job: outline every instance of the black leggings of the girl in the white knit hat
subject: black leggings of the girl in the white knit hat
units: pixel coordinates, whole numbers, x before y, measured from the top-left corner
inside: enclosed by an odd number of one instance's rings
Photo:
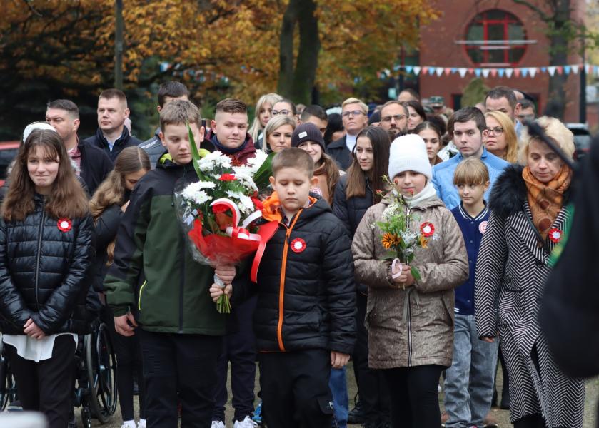
[[[443,369],[441,365],[422,365],[383,370],[393,428],[441,427],[437,388]]]

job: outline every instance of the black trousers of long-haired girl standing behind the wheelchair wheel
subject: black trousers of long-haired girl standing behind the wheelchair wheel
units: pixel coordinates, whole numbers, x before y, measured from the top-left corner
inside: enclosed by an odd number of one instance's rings
[[[139,335],[126,337],[114,330],[114,316],[108,307],[104,307],[102,320],[109,326],[114,352],[116,353],[116,388],[119,392],[119,406],[124,421],[134,419],[133,389],[134,378],[139,387],[139,417],[146,419],[146,388],[141,363]],[[136,330],[139,331],[141,329]]]

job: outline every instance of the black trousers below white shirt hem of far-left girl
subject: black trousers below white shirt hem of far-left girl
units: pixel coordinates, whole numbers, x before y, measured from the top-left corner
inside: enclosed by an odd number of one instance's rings
[[[14,346],[4,345],[16,384],[19,385],[23,409],[44,413],[49,428],[65,428],[73,408],[73,337],[56,337],[52,357],[40,362],[25,360],[16,353]]]

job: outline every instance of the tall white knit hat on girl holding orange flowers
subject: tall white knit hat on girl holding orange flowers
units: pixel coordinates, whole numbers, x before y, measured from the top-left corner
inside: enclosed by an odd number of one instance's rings
[[[389,151],[389,179],[403,171],[414,171],[433,178],[433,168],[428,161],[426,145],[420,136],[406,134],[393,140]]]

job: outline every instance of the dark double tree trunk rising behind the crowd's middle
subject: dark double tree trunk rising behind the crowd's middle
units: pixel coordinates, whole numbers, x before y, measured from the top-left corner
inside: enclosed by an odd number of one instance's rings
[[[295,103],[310,104],[321,40],[314,0],[290,0],[283,15],[279,51],[278,93]],[[299,24],[298,58],[293,64],[293,31]]]

